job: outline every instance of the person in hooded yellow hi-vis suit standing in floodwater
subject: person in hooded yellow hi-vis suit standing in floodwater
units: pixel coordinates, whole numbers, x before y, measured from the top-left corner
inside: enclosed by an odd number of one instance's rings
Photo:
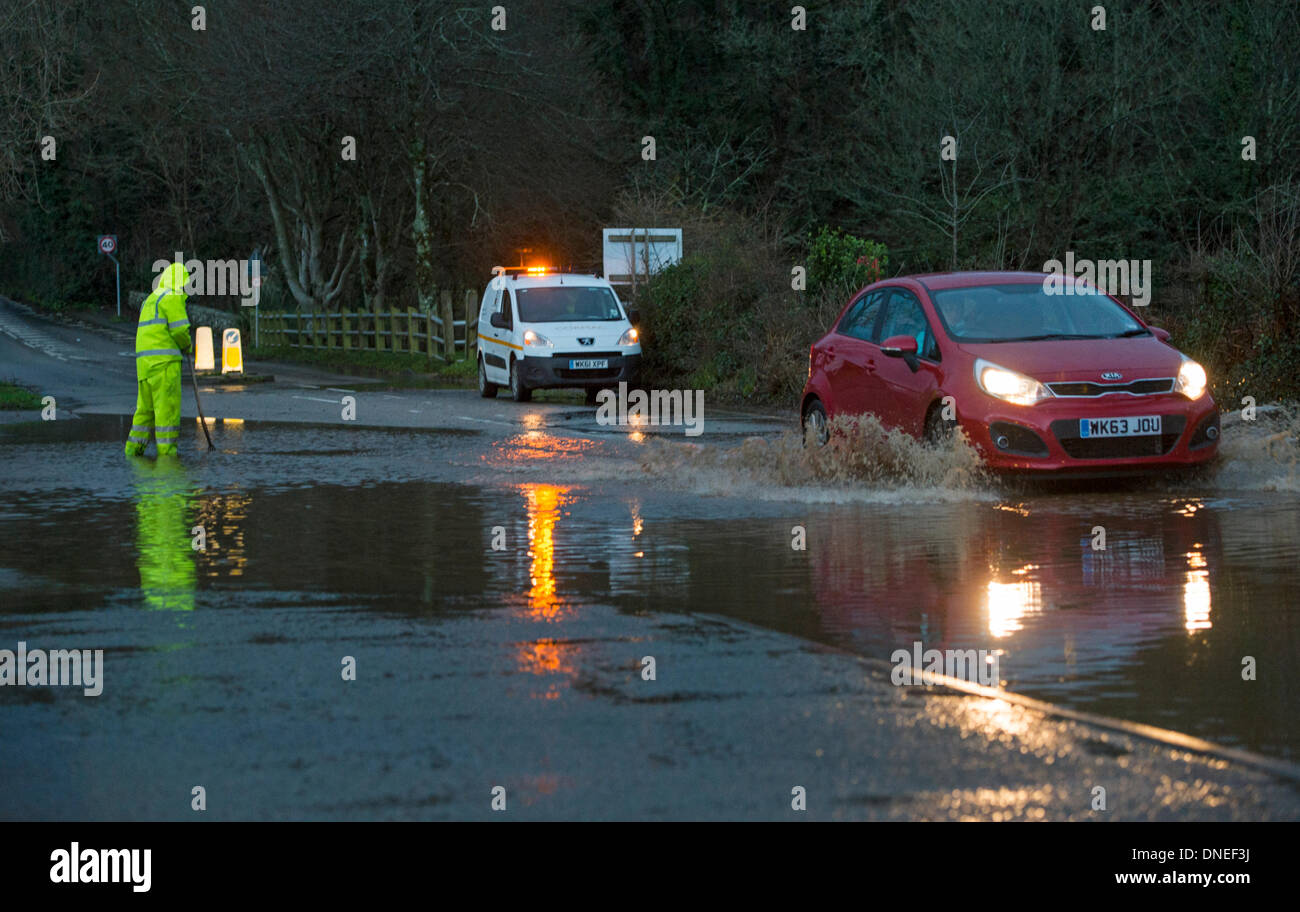
[[[135,329],[135,417],[126,455],[139,456],[157,438],[159,456],[176,456],[181,437],[181,352],[190,351],[185,286],[190,274],[179,262],[164,270],[153,294],[140,304]]]

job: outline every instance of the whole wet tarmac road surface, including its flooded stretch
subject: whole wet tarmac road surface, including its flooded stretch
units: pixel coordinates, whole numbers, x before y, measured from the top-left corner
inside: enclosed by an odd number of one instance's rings
[[[65,375],[23,357],[0,374]],[[107,655],[100,698],[0,689],[0,816],[183,818],[194,785],[220,818],[488,817],[494,785],[547,818],[788,818],[794,786],[811,817],[1297,816],[1248,763],[881,670],[918,640],[997,650],[1013,691],[1294,760],[1300,530],[1271,464],[783,486],[679,459],[779,416],[723,414],[697,451],[576,403],[411,391],[359,400],[426,429],[367,427],[286,404],[313,379],[213,390],[209,414],[304,424],[218,421],[211,455],[191,425],[181,465],[124,460],[103,387],[0,427],[0,648]]]

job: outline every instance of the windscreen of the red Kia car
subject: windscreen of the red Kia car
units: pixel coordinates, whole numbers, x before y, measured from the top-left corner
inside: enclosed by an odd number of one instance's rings
[[[948,334],[959,342],[1031,339],[1113,339],[1147,330],[1132,314],[1095,288],[1074,294],[1043,285],[982,285],[932,291]]]

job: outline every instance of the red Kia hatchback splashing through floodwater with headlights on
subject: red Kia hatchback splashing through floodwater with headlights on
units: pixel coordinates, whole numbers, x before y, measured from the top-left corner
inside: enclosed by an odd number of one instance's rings
[[[959,425],[993,469],[1126,474],[1212,459],[1219,418],[1204,368],[1115,298],[1046,278],[867,286],[809,351],[805,439],[826,443],[836,416],[874,414],[927,440]]]

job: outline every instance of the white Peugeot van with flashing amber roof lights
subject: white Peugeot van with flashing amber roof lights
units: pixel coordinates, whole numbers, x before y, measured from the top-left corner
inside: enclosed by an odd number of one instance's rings
[[[599,390],[634,382],[641,342],[627,308],[595,275],[507,270],[478,307],[478,394],[510,387],[526,403],[533,390]]]

